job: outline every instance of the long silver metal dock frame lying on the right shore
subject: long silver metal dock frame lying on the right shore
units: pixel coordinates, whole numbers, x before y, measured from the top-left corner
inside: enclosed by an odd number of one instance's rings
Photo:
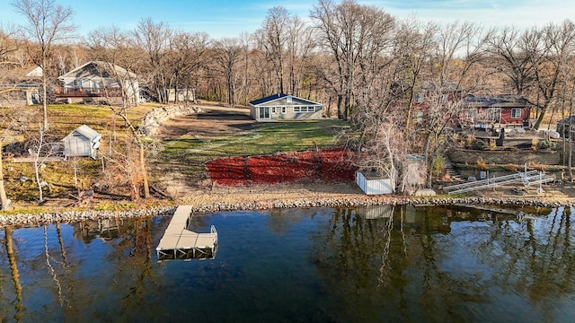
[[[505,175],[491,179],[475,180],[463,184],[452,185],[443,188],[443,191],[451,195],[464,192],[472,192],[483,188],[495,188],[506,184],[523,183],[525,186],[531,186],[536,184],[549,183],[553,180],[555,180],[553,176],[547,175],[543,171],[529,170],[512,175]]]

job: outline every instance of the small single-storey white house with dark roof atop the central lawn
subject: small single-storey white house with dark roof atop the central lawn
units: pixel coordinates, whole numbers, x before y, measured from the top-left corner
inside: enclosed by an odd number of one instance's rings
[[[284,93],[250,102],[250,116],[257,121],[323,118],[323,104]]]

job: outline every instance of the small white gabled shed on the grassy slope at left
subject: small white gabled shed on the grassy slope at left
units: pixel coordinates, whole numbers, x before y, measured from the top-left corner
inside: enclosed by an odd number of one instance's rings
[[[86,125],[77,127],[69,135],[66,135],[64,141],[64,156],[66,157],[92,157],[96,159],[96,151],[100,146],[100,138],[93,128]]]

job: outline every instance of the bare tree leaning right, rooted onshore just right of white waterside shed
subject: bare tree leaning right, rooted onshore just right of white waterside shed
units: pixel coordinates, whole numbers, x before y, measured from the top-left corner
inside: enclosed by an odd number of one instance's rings
[[[483,77],[473,74],[482,63],[486,39],[490,35],[473,23],[454,22],[439,28],[437,45],[431,52],[427,85],[424,88],[424,121],[420,130],[425,134],[423,153],[428,162],[428,185],[434,166],[444,147],[443,135],[448,127],[464,125],[467,113],[462,104],[467,93],[478,89]]]

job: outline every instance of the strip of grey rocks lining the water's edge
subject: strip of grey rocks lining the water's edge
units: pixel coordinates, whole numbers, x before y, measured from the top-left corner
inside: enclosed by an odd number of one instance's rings
[[[271,208],[298,208],[298,207],[358,207],[369,205],[499,205],[499,206],[529,206],[537,208],[558,208],[575,206],[574,200],[544,201],[517,198],[491,198],[491,197],[364,197],[364,198],[323,198],[302,199],[289,202],[246,202],[246,203],[215,203],[210,205],[194,205],[192,213],[211,213],[219,211],[253,211]],[[149,216],[171,216],[175,206],[163,206],[149,209],[100,212],[100,211],[66,211],[42,214],[14,214],[0,215],[0,227],[33,227],[52,223],[77,223],[83,221],[97,221],[103,219],[130,219]]]

